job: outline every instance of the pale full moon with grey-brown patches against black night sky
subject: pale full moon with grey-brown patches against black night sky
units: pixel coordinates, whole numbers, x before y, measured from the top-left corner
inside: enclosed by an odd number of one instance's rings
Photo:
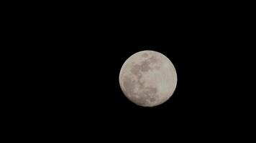
[[[173,95],[177,74],[165,55],[157,51],[139,51],[124,62],[119,84],[127,99],[134,104],[155,107]]]

